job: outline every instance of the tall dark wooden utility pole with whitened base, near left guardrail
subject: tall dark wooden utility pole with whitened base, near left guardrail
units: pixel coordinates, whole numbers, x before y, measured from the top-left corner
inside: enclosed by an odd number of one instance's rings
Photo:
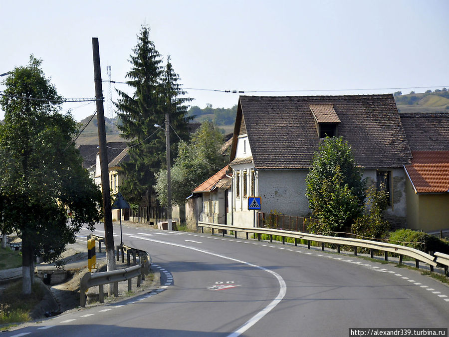
[[[95,99],[97,103],[98,145],[100,147],[101,189],[103,192],[104,236],[107,270],[115,270],[114,235],[112,232],[111,193],[109,191],[108,154],[106,127],[104,125],[103,89],[101,86],[100,50],[98,37],[92,37],[94,63]],[[114,294],[114,284],[109,284],[109,296]]]

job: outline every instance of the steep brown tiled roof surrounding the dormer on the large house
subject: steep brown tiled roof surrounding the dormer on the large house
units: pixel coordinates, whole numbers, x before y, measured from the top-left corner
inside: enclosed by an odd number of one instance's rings
[[[402,167],[411,152],[393,95],[240,96],[230,161],[244,117],[254,166],[309,168],[320,139],[310,105],[332,105],[337,133],[352,147],[362,167]]]

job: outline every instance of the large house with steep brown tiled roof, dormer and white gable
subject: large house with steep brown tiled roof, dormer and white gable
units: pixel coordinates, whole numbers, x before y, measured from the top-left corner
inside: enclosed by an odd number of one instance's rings
[[[261,211],[310,215],[305,178],[326,136],[342,136],[369,184],[386,184],[389,220],[407,217],[412,153],[393,95],[240,96],[232,138],[233,224],[252,227],[248,197]]]

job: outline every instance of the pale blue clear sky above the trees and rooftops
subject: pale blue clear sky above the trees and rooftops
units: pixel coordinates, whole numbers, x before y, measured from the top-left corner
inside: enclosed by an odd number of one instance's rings
[[[111,79],[126,81],[143,24],[201,108],[237,104],[239,93],[214,90],[288,96],[449,87],[447,0],[0,0],[0,13],[0,74],[33,54],[65,98],[95,96],[92,37],[102,79],[110,65]],[[112,84],[113,101],[115,88],[132,93]],[[108,116],[107,82],[103,92]],[[69,109],[82,120],[95,103],[64,103]]]

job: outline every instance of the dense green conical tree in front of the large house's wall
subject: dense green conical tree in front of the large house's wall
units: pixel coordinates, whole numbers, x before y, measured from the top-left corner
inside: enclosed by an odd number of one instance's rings
[[[365,183],[348,143],[341,137],[325,138],[306,178],[306,197],[319,220],[309,231],[340,231],[351,226],[362,210]]]

